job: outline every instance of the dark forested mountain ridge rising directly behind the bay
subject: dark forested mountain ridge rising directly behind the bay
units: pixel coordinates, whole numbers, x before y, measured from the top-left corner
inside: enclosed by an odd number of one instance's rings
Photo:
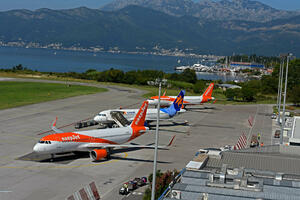
[[[300,55],[300,16],[257,23],[176,17],[139,6],[115,12],[85,7],[13,10],[0,12],[0,41],[124,51],[153,51],[158,46],[201,54]]]

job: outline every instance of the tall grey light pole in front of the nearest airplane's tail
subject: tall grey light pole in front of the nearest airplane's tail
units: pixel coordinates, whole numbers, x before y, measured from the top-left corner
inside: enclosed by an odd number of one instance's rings
[[[158,149],[158,129],[159,129],[159,117],[160,117],[160,93],[161,93],[161,80],[159,80],[159,90],[158,90],[158,105],[157,105],[157,120],[156,120],[156,131],[155,131],[155,151],[154,151],[154,162],[153,162],[151,200],[155,200],[157,149]]]

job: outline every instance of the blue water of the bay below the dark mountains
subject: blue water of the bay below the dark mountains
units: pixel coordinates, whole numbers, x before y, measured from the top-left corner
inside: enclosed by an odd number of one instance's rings
[[[0,68],[7,69],[22,64],[41,72],[85,72],[88,69],[104,71],[114,68],[123,71],[152,69],[174,73],[175,66],[199,62],[201,63],[201,59],[192,57],[0,47]],[[211,73],[197,73],[197,78],[222,81],[236,79],[232,75]]]

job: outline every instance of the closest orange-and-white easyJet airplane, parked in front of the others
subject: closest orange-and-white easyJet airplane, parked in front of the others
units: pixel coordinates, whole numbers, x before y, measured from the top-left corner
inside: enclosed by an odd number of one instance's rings
[[[51,160],[54,158],[54,154],[58,153],[88,151],[90,157],[98,161],[109,158],[111,149],[115,147],[154,148],[154,146],[149,145],[122,145],[149,130],[148,127],[144,126],[147,108],[148,102],[145,101],[130,126],[121,128],[63,132],[55,127],[55,120],[52,129],[56,133],[41,138],[33,147],[33,151],[41,154],[51,154]],[[167,146],[172,144],[174,137]],[[166,148],[167,146],[159,148]]]

